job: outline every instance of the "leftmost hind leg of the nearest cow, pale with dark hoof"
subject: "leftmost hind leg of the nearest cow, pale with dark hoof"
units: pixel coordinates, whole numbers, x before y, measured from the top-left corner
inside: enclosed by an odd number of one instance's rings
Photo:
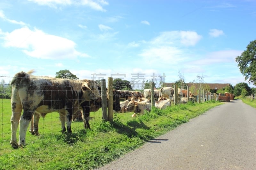
[[[17,99],[19,100],[19,99]],[[20,101],[17,101],[16,99],[12,99],[12,117],[11,117],[11,129],[12,129],[12,137],[11,137],[11,142],[10,144],[14,149],[18,148],[18,143],[17,143],[17,129],[19,125],[19,120],[20,120],[20,115],[22,111],[22,106]]]

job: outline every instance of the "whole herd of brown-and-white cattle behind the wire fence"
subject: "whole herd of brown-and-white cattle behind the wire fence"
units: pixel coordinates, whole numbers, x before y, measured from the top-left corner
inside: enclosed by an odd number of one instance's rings
[[[13,148],[26,144],[26,131],[30,122],[29,131],[38,135],[40,117],[51,112],[60,114],[61,131],[72,133],[71,121],[81,116],[84,128],[90,129],[90,112],[98,111],[101,107],[100,85],[94,80],[69,80],[31,75],[33,71],[19,72],[11,81],[12,85],[12,137],[10,144]],[[107,89],[106,89],[107,90]],[[178,101],[188,102],[186,90],[178,89]],[[189,100],[195,99],[189,94]],[[155,107],[164,109],[171,105],[174,98],[174,89],[162,87],[154,90]],[[186,98],[186,99],[185,99]],[[120,102],[120,99],[124,99]],[[21,115],[23,110],[23,114]],[[115,112],[144,113],[151,110],[151,91],[113,90],[113,110]],[[67,129],[65,127],[67,123]],[[16,132],[20,124],[19,142]]]

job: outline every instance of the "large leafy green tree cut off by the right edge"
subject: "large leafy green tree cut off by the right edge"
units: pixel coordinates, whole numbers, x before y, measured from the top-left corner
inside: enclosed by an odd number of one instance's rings
[[[247,49],[236,57],[240,72],[249,83],[256,85],[256,40],[250,41]]]

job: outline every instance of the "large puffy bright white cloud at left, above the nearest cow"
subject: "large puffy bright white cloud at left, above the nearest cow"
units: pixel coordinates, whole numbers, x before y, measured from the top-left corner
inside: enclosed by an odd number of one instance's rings
[[[89,56],[76,51],[76,43],[71,40],[44,33],[36,28],[30,30],[28,27],[6,33],[4,46],[22,48],[25,54],[43,59],[76,59],[77,56]]]

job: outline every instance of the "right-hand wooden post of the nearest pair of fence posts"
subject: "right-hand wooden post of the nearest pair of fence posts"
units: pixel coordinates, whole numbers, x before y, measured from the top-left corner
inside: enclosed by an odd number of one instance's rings
[[[113,122],[113,78],[108,77],[108,121]]]

